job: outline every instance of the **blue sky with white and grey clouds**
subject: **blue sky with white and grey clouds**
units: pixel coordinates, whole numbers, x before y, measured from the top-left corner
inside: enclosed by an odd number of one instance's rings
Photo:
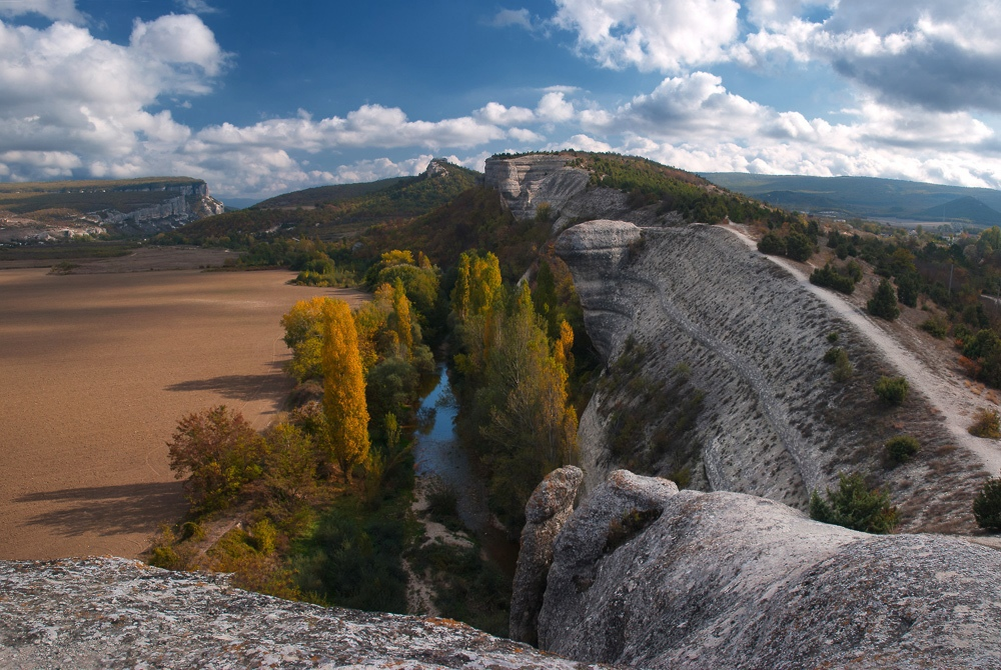
[[[0,180],[221,199],[574,147],[1001,187],[1001,0],[0,0]]]

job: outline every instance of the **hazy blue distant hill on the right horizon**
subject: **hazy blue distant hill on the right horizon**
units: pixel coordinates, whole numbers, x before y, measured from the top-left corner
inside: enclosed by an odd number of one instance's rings
[[[1001,221],[1001,191],[876,177],[814,177],[704,172],[715,184],[800,211],[846,217],[955,221],[987,227]],[[974,204],[974,202],[976,204]]]

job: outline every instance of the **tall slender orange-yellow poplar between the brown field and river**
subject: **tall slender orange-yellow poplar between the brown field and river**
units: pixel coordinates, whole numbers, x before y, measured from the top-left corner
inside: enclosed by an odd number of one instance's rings
[[[344,480],[368,461],[368,408],[354,318],[347,302],[323,305],[323,414],[327,448]]]

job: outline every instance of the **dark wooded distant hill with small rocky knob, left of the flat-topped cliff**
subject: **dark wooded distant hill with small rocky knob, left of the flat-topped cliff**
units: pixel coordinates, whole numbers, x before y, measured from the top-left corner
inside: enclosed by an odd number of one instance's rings
[[[189,241],[262,232],[338,239],[376,223],[425,214],[474,186],[478,177],[478,172],[434,159],[417,176],[285,193],[195,221],[177,235]]]

